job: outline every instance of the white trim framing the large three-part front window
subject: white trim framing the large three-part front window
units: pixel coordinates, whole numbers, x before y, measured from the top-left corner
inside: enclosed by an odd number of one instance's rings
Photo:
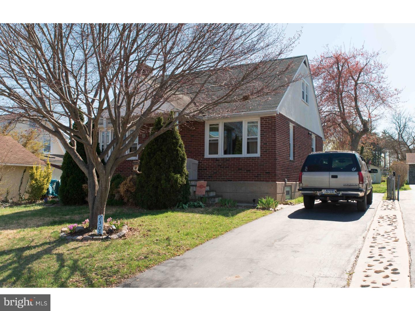
[[[223,123],[242,121],[242,154],[223,154]],[[258,121],[258,153],[247,153],[248,121]],[[258,117],[214,119],[205,122],[205,158],[250,158],[261,156],[261,122]],[[219,124],[219,154],[209,154],[209,125]]]

